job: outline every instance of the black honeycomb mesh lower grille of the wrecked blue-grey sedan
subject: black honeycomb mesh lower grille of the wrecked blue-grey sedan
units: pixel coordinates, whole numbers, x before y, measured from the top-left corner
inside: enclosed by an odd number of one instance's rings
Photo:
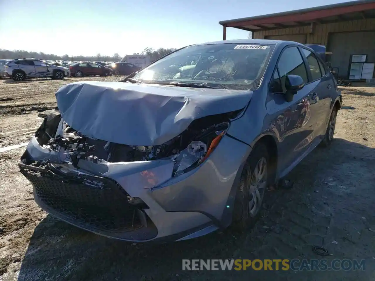
[[[58,175],[50,169],[20,164],[48,208],[83,228],[127,232],[142,227],[127,194],[111,179],[89,175]],[[48,211],[48,210],[47,210]]]

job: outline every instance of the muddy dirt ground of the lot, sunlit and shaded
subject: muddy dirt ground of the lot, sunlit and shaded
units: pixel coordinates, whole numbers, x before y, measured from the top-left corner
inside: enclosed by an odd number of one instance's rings
[[[118,81],[119,77],[89,78]],[[335,140],[291,173],[291,190],[269,191],[247,233],[231,229],[170,244],[131,244],[63,223],[34,202],[18,172],[22,146],[77,81],[0,80],[0,281],[375,280],[375,88],[343,87]],[[82,78],[81,78],[82,80]],[[5,147],[14,145],[14,149]],[[323,245],[330,256],[318,256]],[[182,271],[182,259],[365,259],[365,271]]]

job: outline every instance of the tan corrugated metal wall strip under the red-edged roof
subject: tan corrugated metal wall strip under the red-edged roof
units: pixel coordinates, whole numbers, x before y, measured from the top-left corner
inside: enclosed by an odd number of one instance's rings
[[[375,30],[375,19],[359,19],[356,21],[317,24],[314,27],[313,33],[310,33],[310,26],[255,31],[253,33],[253,38],[265,39],[265,36],[270,35],[306,34],[307,44],[327,45],[329,33],[365,30]]]

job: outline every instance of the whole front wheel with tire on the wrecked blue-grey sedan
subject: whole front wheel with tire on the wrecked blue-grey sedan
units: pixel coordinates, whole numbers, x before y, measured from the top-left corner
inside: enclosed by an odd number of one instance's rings
[[[269,185],[269,163],[267,146],[257,143],[246,160],[237,187],[232,220],[234,229],[249,229],[259,218],[264,194]]]

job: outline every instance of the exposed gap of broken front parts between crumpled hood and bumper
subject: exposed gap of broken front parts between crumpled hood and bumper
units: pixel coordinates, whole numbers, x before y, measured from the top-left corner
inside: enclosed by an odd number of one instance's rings
[[[66,124],[58,112],[52,111],[36,131],[43,148],[63,150],[62,162],[77,167],[79,160],[100,162],[130,162],[168,159],[174,161],[173,175],[188,172],[201,164],[219,143],[229,128],[230,120],[240,111],[210,115],[193,121],[180,135],[155,146],[133,146],[93,139]]]

